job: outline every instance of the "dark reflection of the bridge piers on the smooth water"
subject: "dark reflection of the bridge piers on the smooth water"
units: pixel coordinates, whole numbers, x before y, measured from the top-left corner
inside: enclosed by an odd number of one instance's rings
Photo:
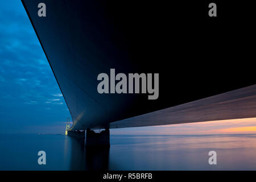
[[[108,170],[110,147],[85,147],[83,139],[67,136],[64,148],[71,150],[69,170]]]

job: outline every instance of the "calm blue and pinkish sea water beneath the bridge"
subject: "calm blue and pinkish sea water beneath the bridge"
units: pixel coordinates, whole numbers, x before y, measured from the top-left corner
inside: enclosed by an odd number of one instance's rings
[[[111,136],[111,147],[89,150],[64,135],[0,135],[0,170],[255,170],[256,134]],[[46,151],[46,165],[38,151]],[[217,152],[209,165],[208,152]]]

